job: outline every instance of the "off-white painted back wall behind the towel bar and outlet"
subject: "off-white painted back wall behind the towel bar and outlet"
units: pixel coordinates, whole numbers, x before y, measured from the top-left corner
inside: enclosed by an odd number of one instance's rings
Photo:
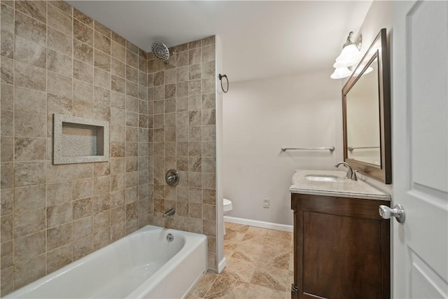
[[[335,169],[342,155],[342,82],[325,71],[230,83],[223,97],[223,186],[228,216],[292,225],[295,169]],[[231,76],[230,76],[231,78]],[[286,151],[335,146],[335,151]],[[263,198],[270,208],[262,207]]]

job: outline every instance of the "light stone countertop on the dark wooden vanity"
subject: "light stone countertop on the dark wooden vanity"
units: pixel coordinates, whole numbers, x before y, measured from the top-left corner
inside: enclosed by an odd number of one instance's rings
[[[297,169],[293,174],[293,185],[290,193],[325,195],[336,197],[364,198],[366,200],[391,200],[391,195],[375,188],[365,181],[344,179],[346,172],[335,170]],[[309,181],[307,175],[337,176],[343,181]]]

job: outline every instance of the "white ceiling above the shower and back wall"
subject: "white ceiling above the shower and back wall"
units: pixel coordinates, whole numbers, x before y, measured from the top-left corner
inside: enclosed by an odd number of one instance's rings
[[[332,72],[372,1],[67,1],[147,52],[211,35],[230,82]]]

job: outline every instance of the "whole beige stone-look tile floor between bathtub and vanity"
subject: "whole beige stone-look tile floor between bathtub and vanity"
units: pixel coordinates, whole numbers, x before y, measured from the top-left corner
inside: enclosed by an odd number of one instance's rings
[[[187,299],[290,298],[293,282],[292,232],[225,223],[220,274],[207,272]]]

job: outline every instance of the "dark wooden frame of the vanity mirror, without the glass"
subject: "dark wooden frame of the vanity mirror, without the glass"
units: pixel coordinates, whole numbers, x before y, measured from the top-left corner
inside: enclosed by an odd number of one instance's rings
[[[358,79],[363,76],[367,67],[369,67],[375,59],[377,59],[378,63],[380,165],[349,158],[347,144],[346,96]],[[344,161],[349,163],[353,170],[358,170],[361,174],[365,174],[366,176],[387,184],[392,182],[390,76],[386,29],[381,29],[372,42],[372,45],[365,53],[363,59],[360,60],[358,66],[353,71],[353,74],[342,88],[342,116],[344,126]]]

